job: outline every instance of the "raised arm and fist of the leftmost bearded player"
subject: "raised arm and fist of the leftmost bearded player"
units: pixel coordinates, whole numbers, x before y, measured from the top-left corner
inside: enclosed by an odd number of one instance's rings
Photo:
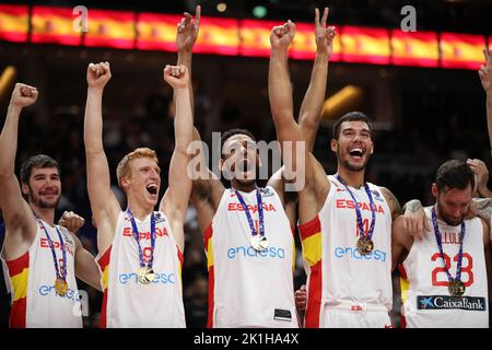
[[[23,253],[36,234],[36,223],[27,202],[22,198],[21,188],[14,174],[17,150],[19,118],[24,107],[36,102],[37,89],[16,83],[5,124],[0,135],[0,208],[5,223],[7,258],[15,258]]]

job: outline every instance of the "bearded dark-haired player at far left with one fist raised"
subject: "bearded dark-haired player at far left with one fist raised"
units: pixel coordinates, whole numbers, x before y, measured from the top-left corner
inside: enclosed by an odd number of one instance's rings
[[[5,224],[2,264],[11,292],[10,327],[82,327],[75,276],[101,290],[94,257],[66,228],[55,224],[61,197],[57,161],[38,154],[14,175],[19,118],[36,88],[16,83],[0,136],[0,208]],[[24,198],[25,200],[24,200]],[[72,225],[73,215],[65,215]]]

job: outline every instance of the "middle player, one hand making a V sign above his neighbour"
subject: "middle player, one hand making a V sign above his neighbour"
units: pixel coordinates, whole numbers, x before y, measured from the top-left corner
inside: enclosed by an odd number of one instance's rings
[[[335,36],[332,30],[325,28],[328,10],[321,22],[316,12],[318,51],[301,115],[321,109]],[[177,30],[178,63],[189,70],[199,14],[199,7],[196,19],[185,14]],[[200,140],[195,131],[195,139]],[[223,133],[220,167],[232,173],[231,188],[225,188],[206,166],[194,180],[191,201],[208,255],[209,327],[298,326],[292,272],[295,197],[284,191],[282,175],[272,177],[266,188],[258,187],[260,161],[255,143],[253,135],[244,129]]]

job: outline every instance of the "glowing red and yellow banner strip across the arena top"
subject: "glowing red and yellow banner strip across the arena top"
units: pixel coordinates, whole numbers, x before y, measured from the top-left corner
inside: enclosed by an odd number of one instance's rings
[[[136,13],[89,9],[86,33],[77,30],[80,14],[71,8],[0,4],[0,40],[98,46],[119,49],[176,51],[180,14]],[[270,32],[281,21],[201,18],[194,51],[198,54],[269,57]],[[295,23],[289,55],[313,59],[313,23]],[[402,32],[400,30],[337,26],[331,61],[429,68],[478,69],[484,35]]]

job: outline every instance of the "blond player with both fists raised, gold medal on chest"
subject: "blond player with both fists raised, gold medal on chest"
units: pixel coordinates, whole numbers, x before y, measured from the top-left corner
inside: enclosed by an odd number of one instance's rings
[[[192,115],[185,67],[166,66],[164,79],[176,95],[176,145],[169,163],[169,186],[159,211],[161,187],[155,152],[139,148],[119,162],[118,185],[127,196],[121,210],[110,190],[103,149],[103,90],[109,81],[108,62],[89,65],[84,143],[87,190],[97,226],[98,264],[103,271],[102,327],[185,327],[183,287],[183,224],[191,190],[186,176],[192,140]]]

